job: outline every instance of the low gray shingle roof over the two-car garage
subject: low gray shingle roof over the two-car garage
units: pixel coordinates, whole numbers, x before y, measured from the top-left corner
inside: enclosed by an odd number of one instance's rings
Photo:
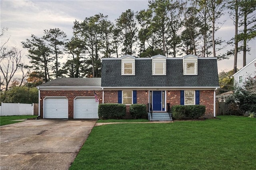
[[[48,81],[38,87],[58,87],[58,86],[82,86],[82,87],[100,87],[101,78],[57,78]]]

